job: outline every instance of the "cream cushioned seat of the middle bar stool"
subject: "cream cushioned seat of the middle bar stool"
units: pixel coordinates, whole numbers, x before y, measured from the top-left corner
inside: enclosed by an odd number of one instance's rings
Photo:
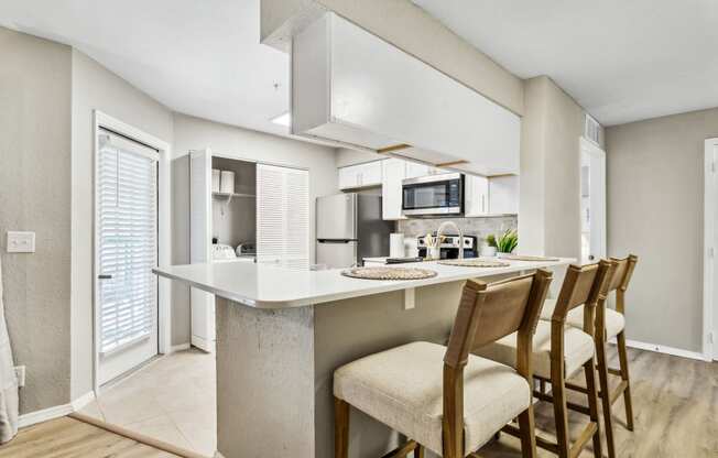
[[[503,364],[516,366],[516,334],[482,347],[476,353]],[[564,331],[564,367],[566,378],[581,369],[594,356],[594,339],[583,330],[567,326]],[[533,373],[551,378],[551,323],[538,321],[533,337]]]

